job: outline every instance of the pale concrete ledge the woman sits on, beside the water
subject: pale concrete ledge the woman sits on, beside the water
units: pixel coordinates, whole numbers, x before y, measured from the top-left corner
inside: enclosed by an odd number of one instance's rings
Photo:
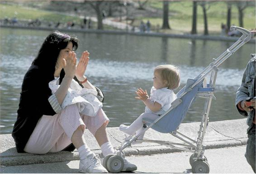
[[[199,131],[200,122],[182,123],[179,128],[179,132],[189,136],[196,140],[197,132]],[[110,141],[113,146],[117,148],[125,135],[119,131],[118,127],[107,128]],[[227,120],[218,122],[209,122],[207,132],[204,136],[204,146],[206,149],[223,148],[229,146],[242,146],[247,144],[247,124],[246,118],[237,120]],[[97,144],[95,138],[90,132],[85,130],[85,140],[92,151],[96,154],[100,154],[100,146]],[[182,142],[179,139],[171,136],[170,134],[163,134],[149,129],[146,137],[150,137],[154,140]],[[47,153],[44,155],[29,154],[29,153],[17,153],[14,140],[10,134],[0,135],[0,153],[1,166],[12,165],[28,165],[39,163],[53,163],[67,160],[79,160],[78,152],[57,152]],[[180,150],[162,146],[156,143],[142,143],[132,146],[132,148],[126,148],[123,150],[125,155],[152,155],[161,153],[172,153]]]

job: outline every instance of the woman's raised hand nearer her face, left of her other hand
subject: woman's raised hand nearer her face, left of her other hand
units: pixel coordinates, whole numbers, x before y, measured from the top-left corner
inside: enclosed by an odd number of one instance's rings
[[[62,59],[62,65],[65,71],[66,76],[74,78],[76,74],[76,53],[69,52],[68,56],[65,59]]]

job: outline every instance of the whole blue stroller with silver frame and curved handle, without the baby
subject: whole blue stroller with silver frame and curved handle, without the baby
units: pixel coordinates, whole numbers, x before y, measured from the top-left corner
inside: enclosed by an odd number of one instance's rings
[[[131,135],[126,138],[119,147],[117,155],[110,154],[104,158],[104,167],[112,173],[119,173],[123,169],[123,155],[122,150],[128,146],[131,146],[133,141],[141,142],[153,142],[161,145],[169,146],[178,150],[192,152],[190,156],[190,165],[192,166],[193,173],[209,173],[209,163],[204,156],[203,146],[204,135],[209,122],[209,111],[211,107],[212,99],[215,99],[214,88],[215,81],[218,73],[218,66],[220,66],[229,56],[237,51],[242,45],[250,41],[251,33],[240,27],[231,26],[231,30],[237,30],[242,33],[242,36],[229,47],[223,54],[217,59],[213,59],[213,62],[209,64],[196,78],[188,79],[185,87],[183,87],[176,95],[177,99],[171,103],[171,108],[162,114],[156,120],[143,119],[143,122],[147,123],[147,127],[138,135]],[[206,76],[210,75],[209,84],[207,84]],[[185,136],[177,129],[180,123],[185,118],[185,115],[194,102],[196,97],[204,98],[204,112],[203,118],[199,127],[197,141]],[[154,129],[161,133],[170,133],[172,136],[180,139],[183,143],[174,143],[170,141],[156,141],[149,138],[137,139],[140,135],[146,132],[149,128]]]

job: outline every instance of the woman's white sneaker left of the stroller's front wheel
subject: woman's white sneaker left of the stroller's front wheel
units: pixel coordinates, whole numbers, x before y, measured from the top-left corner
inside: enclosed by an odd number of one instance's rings
[[[107,174],[108,171],[101,165],[100,156],[90,154],[85,159],[80,160],[79,171],[87,174]]]

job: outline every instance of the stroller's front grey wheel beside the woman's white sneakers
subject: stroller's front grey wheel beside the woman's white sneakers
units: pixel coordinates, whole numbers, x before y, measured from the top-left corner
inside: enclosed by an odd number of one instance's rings
[[[111,173],[119,173],[123,169],[123,158],[119,155],[110,156],[107,160],[107,169]]]

